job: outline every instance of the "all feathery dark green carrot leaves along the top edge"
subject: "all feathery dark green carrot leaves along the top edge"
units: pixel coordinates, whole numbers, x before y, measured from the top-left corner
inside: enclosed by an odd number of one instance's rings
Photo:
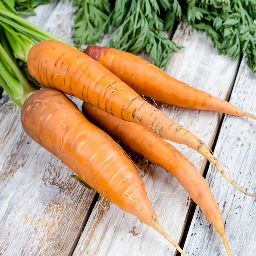
[[[73,37],[78,45],[95,44],[102,32],[111,31],[108,47],[145,52],[155,65],[166,67],[170,53],[181,47],[166,38],[165,32],[184,18],[196,30],[206,32],[219,54],[232,59],[247,54],[247,65],[256,72],[256,0],[72,2],[77,8]]]

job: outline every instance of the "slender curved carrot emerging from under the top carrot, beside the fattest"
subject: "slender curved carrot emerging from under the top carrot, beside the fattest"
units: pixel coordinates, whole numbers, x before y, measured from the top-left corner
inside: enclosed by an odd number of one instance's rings
[[[139,124],[118,119],[88,103],[83,103],[83,113],[116,141],[143,155],[150,162],[161,166],[177,178],[220,234],[227,254],[231,255],[218,204],[204,177],[189,159],[171,144]]]

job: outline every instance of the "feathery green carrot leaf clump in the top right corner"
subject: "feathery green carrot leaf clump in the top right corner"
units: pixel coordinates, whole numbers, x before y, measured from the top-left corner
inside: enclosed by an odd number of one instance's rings
[[[206,32],[219,54],[237,59],[246,53],[247,65],[256,72],[256,0],[182,1],[182,11],[189,25]]]

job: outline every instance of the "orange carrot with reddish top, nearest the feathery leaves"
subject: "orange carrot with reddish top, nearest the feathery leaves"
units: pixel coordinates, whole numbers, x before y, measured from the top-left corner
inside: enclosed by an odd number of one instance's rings
[[[255,115],[236,108],[228,101],[179,81],[149,61],[119,49],[90,46],[85,54],[99,61],[138,94],[156,101],[198,110],[211,110],[256,119]]]

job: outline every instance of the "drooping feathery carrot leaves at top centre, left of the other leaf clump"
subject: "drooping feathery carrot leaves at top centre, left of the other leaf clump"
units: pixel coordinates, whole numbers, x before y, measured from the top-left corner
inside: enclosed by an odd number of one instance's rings
[[[74,43],[94,44],[102,39],[102,32],[112,28],[108,40],[109,47],[138,53],[141,50],[149,54],[158,66],[167,66],[170,52],[177,51],[173,41],[166,33],[173,27],[176,19],[181,18],[180,4],[177,0],[72,0],[77,7],[74,24]],[[164,22],[162,14],[169,17]]]

